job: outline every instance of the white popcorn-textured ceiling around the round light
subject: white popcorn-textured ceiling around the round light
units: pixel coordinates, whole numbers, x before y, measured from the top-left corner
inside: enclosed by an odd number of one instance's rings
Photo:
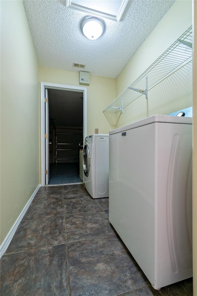
[[[115,0],[108,0],[115,1]],[[38,64],[41,67],[82,71],[116,78],[163,18],[175,0],[130,0],[119,22],[104,19],[106,30],[97,40],[80,31],[85,13],[58,1],[23,1]]]

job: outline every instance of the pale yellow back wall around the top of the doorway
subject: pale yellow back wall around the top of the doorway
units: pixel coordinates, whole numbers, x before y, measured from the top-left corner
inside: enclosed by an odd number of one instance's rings
[[[39,81],[79,86],[79,72],[39,67]],[[95,128],[99,134],[108,134],[115,125],[103,109],[115,98],[115,79],[90,75],[90,85],[80,86],[87,87],[87,134],[94,134]]]

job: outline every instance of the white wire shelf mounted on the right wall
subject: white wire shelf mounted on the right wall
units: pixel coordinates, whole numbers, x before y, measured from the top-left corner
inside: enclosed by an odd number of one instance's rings
[[[119,112],[160,80],[192,59],[192,26],[159,56],[131,85],[129,85],[103,112]]]

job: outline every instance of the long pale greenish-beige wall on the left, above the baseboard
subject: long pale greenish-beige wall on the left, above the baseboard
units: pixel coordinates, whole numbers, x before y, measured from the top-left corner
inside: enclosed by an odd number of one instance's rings
[[[22,1],[1,1],[1,244],[39,184],[38,65]]]

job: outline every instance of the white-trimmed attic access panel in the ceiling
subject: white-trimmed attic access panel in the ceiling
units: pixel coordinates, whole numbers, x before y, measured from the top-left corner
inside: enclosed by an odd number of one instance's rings
[[[60,0],[68,8],[87,14],[119,22],[129,0]]]

